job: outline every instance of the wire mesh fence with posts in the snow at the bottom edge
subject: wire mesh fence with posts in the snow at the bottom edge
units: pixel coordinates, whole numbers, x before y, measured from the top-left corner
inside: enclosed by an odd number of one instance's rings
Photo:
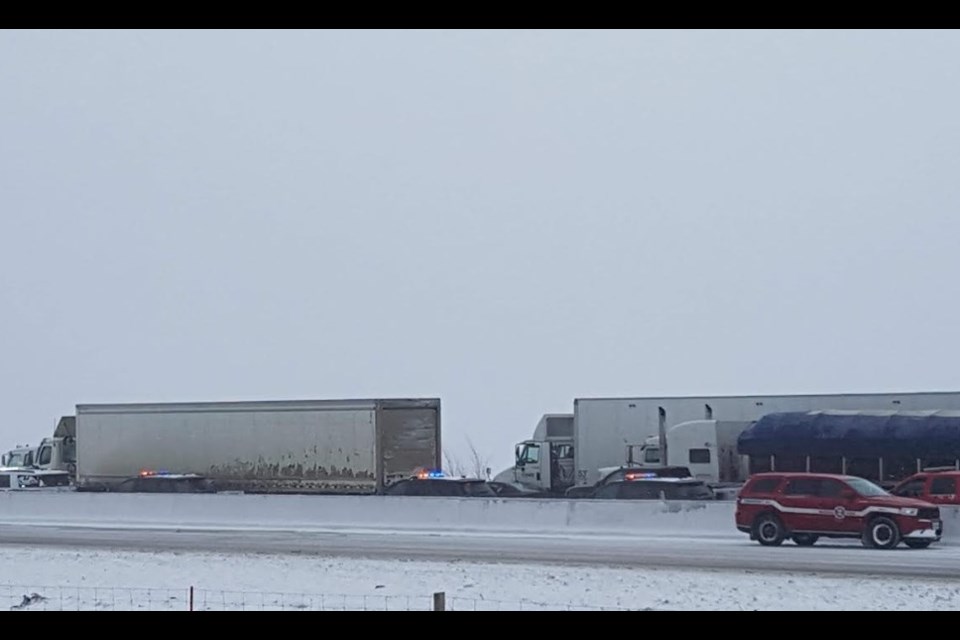
[[[450,596],[346,595],[0,584],[0,611],[630,611],[625,607]],[[636,609],[633,609],[636,610]],[[646,609],[649,610],[649,609]]]

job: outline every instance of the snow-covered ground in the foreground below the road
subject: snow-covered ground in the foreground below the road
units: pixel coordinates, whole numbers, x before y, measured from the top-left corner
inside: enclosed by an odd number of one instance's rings
[[[0,610],[960,610],[960,580],[0,548]],[[39,598],[31,600],[32,594]]]

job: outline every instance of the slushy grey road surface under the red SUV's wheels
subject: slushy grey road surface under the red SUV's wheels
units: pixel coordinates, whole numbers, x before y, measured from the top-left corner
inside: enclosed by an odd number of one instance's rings
[[[761,547],[746,536],[546,536],[373,530],[103,528],[0,525],[0,546],[211,551],[957,578],[960,546],[865,549],[826,541]]]

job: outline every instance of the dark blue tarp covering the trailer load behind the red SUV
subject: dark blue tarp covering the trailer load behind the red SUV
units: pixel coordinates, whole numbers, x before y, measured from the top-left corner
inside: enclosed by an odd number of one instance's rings
[[[960,459],[960,411],[771,413],[737,440],[741,455]]]

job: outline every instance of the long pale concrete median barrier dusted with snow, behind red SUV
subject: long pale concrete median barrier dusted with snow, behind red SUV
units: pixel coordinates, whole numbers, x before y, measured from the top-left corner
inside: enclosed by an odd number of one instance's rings
[[[391,529],[547,534],[739,535],[717,502],[5,492],[0,523],[252,529]],[[944,536],[960,540],[960,509]]]

